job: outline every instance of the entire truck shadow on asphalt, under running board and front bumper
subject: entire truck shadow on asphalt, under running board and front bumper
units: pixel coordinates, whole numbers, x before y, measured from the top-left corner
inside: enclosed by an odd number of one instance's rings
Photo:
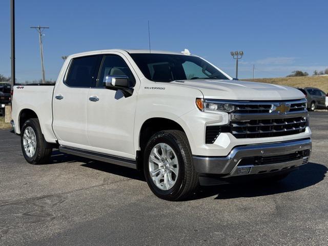
[[[146,181],[143,173],[134,169],[54,151],[50,163],[55,164],[61,162],[82,162],[82,167],[140,181]],[[190,198],[190,200],[202,199],[211,196],[216,196],[214,199],[256,197],[297,191],[320,182],[324,179],[327,171],[328,169],[326,166],[319,163],[309,162],[308,164],[301,166],[299,170],[290,173],[286,178],[277,182],[249,180],[248,182],[236,182],[226,185],[201,187],[194,194],[194,196]]]

